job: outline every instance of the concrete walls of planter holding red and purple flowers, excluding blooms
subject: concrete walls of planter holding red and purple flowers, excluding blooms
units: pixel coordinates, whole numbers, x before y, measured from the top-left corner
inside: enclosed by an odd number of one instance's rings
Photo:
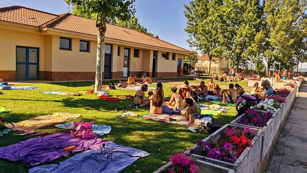
[[[244,128],[243,126],[234,126],[234,125],[226,124],[225,126],[221,127],[216,132],[209,135],[203,141],[210,143],[214,140],[222,138],[223,133],[226,131],[226,127]],[[255,173],[260,163],[261,146],[262,146],[262,130],[260,129],[253,129],[253,130],[257,131],[257,134],[252,140],[252,147],[247,147],[235,163],[228,163],[228,162],[224,162],[224,161],[220,161],[216,159],[211,159],[205,156],[192,154],[190,150],[185,151],[185,154],[187,155],[191,154],[192,158],[203,160],[209,163],[213,163],[221,167],[227,167],[227,168],[233,169],[237,173]],[[194,148],[196,148],[196,145],[192,147],[192,149]]]

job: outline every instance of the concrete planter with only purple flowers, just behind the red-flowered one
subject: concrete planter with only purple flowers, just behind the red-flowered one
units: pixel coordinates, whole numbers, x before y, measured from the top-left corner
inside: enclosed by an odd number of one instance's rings
[[[231,122],[231,124],[236,126],[262,130],[261,161],[266,156],[279,127],[279,120],[278,117],[275,117],[276,115],[276,113],[272,115],[271,112],[255,111],[251,109]]]

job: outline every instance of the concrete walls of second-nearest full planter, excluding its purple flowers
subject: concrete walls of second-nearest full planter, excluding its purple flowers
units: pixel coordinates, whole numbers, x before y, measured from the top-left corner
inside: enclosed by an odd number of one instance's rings
[[[261,112],[264,112],[264,111],[261,111]],[[260,155],[260,160],[262,161],[264,159],[266,153],[268,152],[268,150],[269,150],[269,148],[270,148],[270,146],[273,142],[274,136],[277,132],[277,129],[279,127],[279,124],[278,124],[279,119],[277,117],[277,114],[276,113],[273,114],[272,118],[269,119],[269,121],[266,123],[265,127],[255,127],[255,126],[250,126],[250,125],[245,125],[245,124],[239,124],[243,115],[234,119],[230,124],[236,125],[236,126],[250,127],[250,128],[262,130],[262,147],[261,147],[261,155]]]

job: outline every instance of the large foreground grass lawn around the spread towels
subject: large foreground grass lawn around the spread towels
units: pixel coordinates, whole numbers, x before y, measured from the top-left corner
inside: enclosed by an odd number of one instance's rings
[[[172,79],[175,80],[175,79]],[[176,79],[177,80],[177,79]],[[184,79],[181,79],[183,81]],[[104,81],[103,84],[108,84],[111,81]],[[4,90],[4,95],[0,95],[0,106],[13,110],[10,113],[1,114],[6,119],[12,122],[19,122],[29,118],[34,118],[42,115],[50,115],[54,112],[68,112],[81,114],[82,117],[73,121],[95,121],[95,124],[109,125],[112,127],[111,133],[100,136],[106,141],[114,141],[117,144],[123,144],[138,148],[150,153],[143,159],[138,159],[134,164],[126,167],[122,172],[153,172],[163,165],[163,161],[168,162],[170,155],[182,153],[187,148],[192,147],[197,141],[206,138],[209,134],[201,134],[187,130],[187,126],[171,123],[157,122],[146,120],[140,117],[129,117],[128,119],[119,119],[114,115],[121,112],[115,111],[116,107],[127,107],[128,111],[133,111],[139,115],[149,113],[148,110],[130,107],[133,99],[109,102],[106,100],[97,99],[95,94],[85,94],[79,97],[62,97],[59,95],[42,94],[40,91],[83,91],[93,89],[90,85],[94,82],[66,82],[66,83],[49,83],[49,84],[27,84],[27,86],[38,86],[42,89],[38,90]],[[163,85],[167,85],[163,83]],[[154,86],[154,85],[150,85]],[[164,87],[165,97],[170,95],[170,88]],[[109,95],[134,95],[135,91],[128,90],[111,90]],[[206,103],[210,104],[210,103]],[[230,123],[235,118],[235,107],[226,113],[220,113],[213,117],[214,123]],[[4,126],[0,127],[3,130]],[[56,128],[54,125],[37,129],[38,131],[47,131],[47,134],[54,134],[65,129]],[[0,136],[0,147],[8,146],[25,141],[34,136],[26,135],[19,136],[22,132],[11,131],[7,135]],[[54,141],[56,142],[56,141]],[[70,157],[73,156],[69,155]],[[62,157],[51,163],[59,163],[65,160]],[[0,172],[28,172],[31,168],[29,163],[13,163],[0,159]],[[86,171],[86,170],[85,170]]]

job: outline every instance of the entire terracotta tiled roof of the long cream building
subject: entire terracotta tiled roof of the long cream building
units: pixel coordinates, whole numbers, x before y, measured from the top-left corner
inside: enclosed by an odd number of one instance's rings
[[[0,8],[0,20],[31,26],[50,27],[82,34],[97,35],[94,20],[68,13],[56,15],[21,6],[10,6]],[[105,37],[148,46],[189,52],[184,48],[151,37],[137,30],[113,24],[107,24]]]

